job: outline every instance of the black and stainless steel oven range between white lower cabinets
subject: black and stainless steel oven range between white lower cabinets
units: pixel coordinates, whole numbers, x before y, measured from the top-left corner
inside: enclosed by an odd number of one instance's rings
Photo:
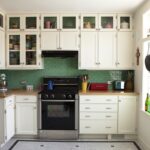
[[[77,139],[79,98],[76,90],[71,88],[70,91],[70,86],[75,88],[75,84],[69,84],[72,80],[68,83],[68,79],[67,84],[57,84],[57,80],[54,80],[53,90],[44,90],[39,94],[39,137]],[[65,81],[66,78],[63,80],[61,78],[61,82]],[[61,90],[58,88],[59,85],[61,85]],[[65,86],[65,90],[63,90],[63,86]]]

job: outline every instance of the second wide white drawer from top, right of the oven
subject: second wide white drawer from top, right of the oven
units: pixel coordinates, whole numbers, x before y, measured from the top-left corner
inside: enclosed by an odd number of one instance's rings
[[[80,111],[117,112],[117,104],[80,104]]]

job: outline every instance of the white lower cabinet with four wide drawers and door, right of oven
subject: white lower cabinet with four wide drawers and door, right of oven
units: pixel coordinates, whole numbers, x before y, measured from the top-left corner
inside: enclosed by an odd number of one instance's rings
[[[80,134],[136,134],[137,96],[80,95]]]

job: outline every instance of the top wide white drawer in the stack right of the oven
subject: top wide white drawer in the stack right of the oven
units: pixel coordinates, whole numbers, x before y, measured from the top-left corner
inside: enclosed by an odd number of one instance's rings
[[[81,95],[80,103],[117,103],[117,96]]]

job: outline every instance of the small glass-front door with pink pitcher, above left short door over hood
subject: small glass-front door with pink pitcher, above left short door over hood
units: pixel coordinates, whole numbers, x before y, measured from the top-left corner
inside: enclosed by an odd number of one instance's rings
[[[42,15],[41,28],[43,31],[57,31],[59,29],[59,15]]]

